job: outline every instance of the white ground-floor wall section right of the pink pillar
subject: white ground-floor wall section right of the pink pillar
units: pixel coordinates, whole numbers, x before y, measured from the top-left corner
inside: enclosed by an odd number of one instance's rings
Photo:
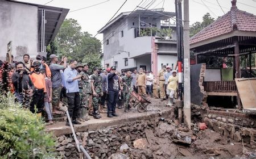
[[[158,55],[158,70],[162,68],[162,64],[163,65],[168,64],[171,66],[172,69],[174,69],[176,63],[177,63],[177,55]]]

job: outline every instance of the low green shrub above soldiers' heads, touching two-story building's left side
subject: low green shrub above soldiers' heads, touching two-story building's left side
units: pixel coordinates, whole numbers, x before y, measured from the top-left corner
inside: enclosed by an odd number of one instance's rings
[[[92,72],[94,67],[101,66],[101,56],[95,53],[86,53],[82,62],[87,63],[90,66],[89,72]]]

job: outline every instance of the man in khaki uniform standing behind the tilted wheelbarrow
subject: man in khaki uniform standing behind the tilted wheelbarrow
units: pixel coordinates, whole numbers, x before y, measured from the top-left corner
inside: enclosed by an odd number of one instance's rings
[[[138,93],[139,95],[143,95],[146,97],[146,80],[147,76],[146,74],[143,73],[143,69],[139,69],[139,73],[137,74],[137,83],[136,85],[138,86]]]

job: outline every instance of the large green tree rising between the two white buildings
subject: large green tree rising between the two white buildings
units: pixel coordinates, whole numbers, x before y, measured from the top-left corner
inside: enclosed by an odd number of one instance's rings
[[[55,53],[82,62],[88,53],[100,55],[101,43],[88,32],[82,32],[77,20],[65,19],[55,41],[47,47],[47,52],[47,56]]]

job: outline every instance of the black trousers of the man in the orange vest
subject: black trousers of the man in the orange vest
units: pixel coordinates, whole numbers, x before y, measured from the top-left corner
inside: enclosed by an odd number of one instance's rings
[[[44,89],[35,89],[35,92],[33,94],[32,102],[30,104],[30,111],[32,113],[35,112],[35,106],[37,109],[37,113],[40,113],[43,111],[44,108]]]

